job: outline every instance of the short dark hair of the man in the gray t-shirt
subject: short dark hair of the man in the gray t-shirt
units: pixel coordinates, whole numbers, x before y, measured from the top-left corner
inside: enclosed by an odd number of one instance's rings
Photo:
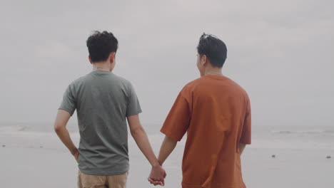
[[[113,33],[94,31],[86,41],[91,61],[106,61],[111,52],[117,51],[118,41]]]

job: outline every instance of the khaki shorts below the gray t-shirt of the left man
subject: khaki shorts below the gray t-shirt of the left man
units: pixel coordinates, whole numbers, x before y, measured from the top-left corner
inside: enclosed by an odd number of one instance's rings
[[[119,175],[89,175],[79,170],[78,188],[126,188],[128,172]]]

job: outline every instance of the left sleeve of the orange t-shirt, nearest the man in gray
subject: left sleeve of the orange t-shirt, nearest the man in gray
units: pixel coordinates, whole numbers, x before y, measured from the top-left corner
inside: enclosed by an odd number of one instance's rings
[[[163,123],[161,132],[173,140],[180,141],[188,130],[190,120],[191,110],[188,101],[180,93]]]

